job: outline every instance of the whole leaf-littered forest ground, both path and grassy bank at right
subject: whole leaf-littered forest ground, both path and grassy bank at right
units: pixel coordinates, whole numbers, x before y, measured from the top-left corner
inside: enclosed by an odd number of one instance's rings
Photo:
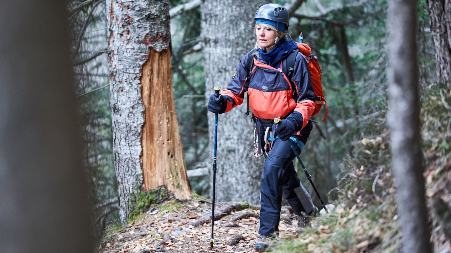
[[[376,156],[376,155],[374,155]],[[434,163],[435,164],[435,163]],[[451,163],[432,164],[425,172],[429,225],[434,253],[451,253]],[[381,176],[379,176],[381,175]],[[273,253],[397,253],[402,245],[396,189],[386,167],[353,166],[335,208],[320,211],[305,233],[297,234],[297,216],[281,209],[279,239]],[[319,208],[319,206],[318,206]],[[96,253],[256,253],[260,207],[242,202],[216,203],[214,237],[210,199],[193,194],[152,205],[123,226],[108,226]]]

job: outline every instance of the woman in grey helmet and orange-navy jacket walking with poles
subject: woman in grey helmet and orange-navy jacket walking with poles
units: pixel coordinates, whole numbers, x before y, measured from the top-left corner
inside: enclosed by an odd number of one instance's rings
[[[313,127],[309,119],[315,102],[308,62],[303,54],[296,55],[294,69],[288,70],[292,71],[292,84],[281,71],[284,60],[297,48],[284,34],[289,26],[288,10],[276,4],[262,5],[254,20],[255,48],[239,60],[227,89],[221,90],[218,96],[212,94],[208,110],[229,112],[243,103],[244,93],[248,92],[258,134],[254,154],[266,157],[260,186],[259,237],[255,244],[256,250],[264,251],[279,231],[282,193],[298,215],[296,231],[302,232],[309,217],[318,211],[297,177],[295,154],[290,147],[293,145],[290,137],[294,137],[298,140],[297,153],[302,152]],[[248,69],[249,57],[253,60],[252,69]],[[282,119],[278,125],[274,124],[276,117]],[[275,133],[271,141],[267,140],[268,131]]]

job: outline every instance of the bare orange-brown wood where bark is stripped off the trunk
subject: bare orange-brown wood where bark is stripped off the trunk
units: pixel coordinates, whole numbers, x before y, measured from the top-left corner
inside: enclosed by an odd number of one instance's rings
[[[170,50],[157,52],[151,48],[141,78],[145,107],[143,184],[144,190],[166,185],[176,198],[188,199],[191,192],[175,115],[171,73]]]

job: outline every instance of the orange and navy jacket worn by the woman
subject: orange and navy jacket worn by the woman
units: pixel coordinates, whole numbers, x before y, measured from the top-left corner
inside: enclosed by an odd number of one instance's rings
[[[275,117],[285,118],[292,112],[302,114],[302,128],[312,116],[315,109],[313,100],[313,87],[308,69],[308,61],[305,56],[298,53],[295,60],[294,72],[290,80],[282,72],[282,61],[267,65],[265,59],[254,58],[252,76],[249,82],[249,70],[246,67],[248,57],[254,57],[249,52],[244,55],[236,68],[227,89],[222,90],[222,95],[227,95],[233,101],[227,100],[226,112],[237,105],[243,104],[244,93],[249,94],[249,106],[255,117],[273,120]],[[293,71],[293,70],[288,70]],[[296,100],[293,99],[295,93]]]

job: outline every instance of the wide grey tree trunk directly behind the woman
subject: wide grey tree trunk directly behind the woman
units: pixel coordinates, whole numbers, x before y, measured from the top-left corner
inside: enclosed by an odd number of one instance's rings
[[[202,41],[207,99],[214,86],[226,88],[244,54],[252,50],[256,36],[253,16],[263,0],[205,0],[201,5]],[[263,159],[253,156],[253,130],[244,104],[218,117],[216,199],[258,203]],[[208,112],[213,154],[214,114]]]

